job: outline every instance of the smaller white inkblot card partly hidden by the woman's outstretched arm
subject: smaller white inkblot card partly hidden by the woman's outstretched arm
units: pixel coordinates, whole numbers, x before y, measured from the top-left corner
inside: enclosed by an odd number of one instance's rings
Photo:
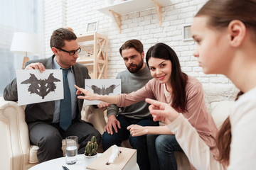
[[[85,89],[94,94],[114,96],[121,94],[121,79],[85,79]],[[102,101],[87,101],[87,105],[97,105]]]

